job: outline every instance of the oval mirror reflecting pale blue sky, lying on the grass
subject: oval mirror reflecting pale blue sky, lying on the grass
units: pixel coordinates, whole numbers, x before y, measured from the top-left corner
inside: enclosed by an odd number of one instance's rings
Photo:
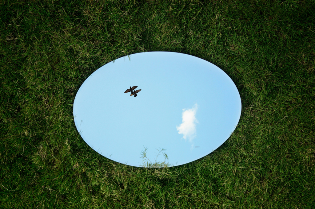
[[[136,97],[124,93],[133,86],[141,89]],[[75,125],[90,147],[137,167],[177,166],[208,155],[229,138],[240,115],[238,89],[224,71],[176,52],[107,63],[83,82],[73,104]]]

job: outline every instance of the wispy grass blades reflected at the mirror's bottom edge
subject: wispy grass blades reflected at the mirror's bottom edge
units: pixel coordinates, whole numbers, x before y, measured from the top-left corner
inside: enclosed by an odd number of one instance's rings
[[[169,157],[167,156],[167,153],[165,153],[164,151],[166,149],[156,149],[158,151],[156,158],[154,159],[154,162],[151,162],[150,159],[148,157],[146,157],[146,153],[147,153],[148,148],[144,147],[144,150],[141,151],[141,157],[142,158],[142,164],[140,165],[141,167],[144,168],[165,168],[165,167],[169,167],[169,166],[173,166],[171,163],[168,163],[167,160],[169,159]],[[164,156],[164,160],[161,161],[157,161],[157,158],[160,155]]]

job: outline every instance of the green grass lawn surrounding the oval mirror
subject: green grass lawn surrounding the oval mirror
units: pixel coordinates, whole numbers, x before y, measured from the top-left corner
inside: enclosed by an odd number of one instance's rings
[[[238,127],[213,153],[134,168],[78,134],[83,81],[148,51],[238,87]],[[314,208],[313,0],[0,0],[0,67],[0,208]]]

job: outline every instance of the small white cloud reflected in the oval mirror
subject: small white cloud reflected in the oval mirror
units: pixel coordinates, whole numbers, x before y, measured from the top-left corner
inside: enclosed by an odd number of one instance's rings
[[[196,137],[196,123],[198,120],[195,115],[198,109],[197,103],[191,109],[183,109],[182,120],[180,126],[176,126],[179,134],[183,135],[183,138],[188,139],[190,142]]]

